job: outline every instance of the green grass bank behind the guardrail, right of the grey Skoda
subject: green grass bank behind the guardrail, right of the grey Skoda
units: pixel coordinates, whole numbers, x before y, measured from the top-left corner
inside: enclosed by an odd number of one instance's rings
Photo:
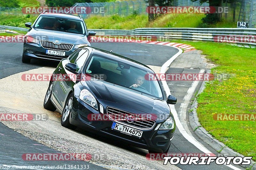
[[[93,16],[85,19],[88,29],[135,29],[135,28],[197,28],[197,27],[236,27],[236,23],[221,21],[216,25],[203,25],[204,14],[166,14],[148,22],[148,15]]]

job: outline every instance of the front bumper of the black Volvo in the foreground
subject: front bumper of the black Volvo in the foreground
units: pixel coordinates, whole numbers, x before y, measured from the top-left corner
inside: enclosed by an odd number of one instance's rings
[[[119,108],[122,110],[131,110],[131,108],[127,108],[123,105],[119,105],[116,103],[111,103],[104,100],[98,100],[98,102],[104,107],[104,114],[106,113],[107,106]],[[99,106],[98,103],[98,106]],[[82,102],[78,97],[73,98],[72,110],[70,112],[70,123],[84,129],[92,128],[96,131],[100,131],[103,134],[108,136],[112,136],[118,139],[121,139],[129,144],[135,145],[140,148],[144,148],[147,150],[155,151],[155,152],[165,152],[168,147],[171,145],[171,140],[174,135],[175,128],[173,130],[155,130],[158,124],[162,124],[164,120],[156,120],[156,124],[150,130],[141,130],[136,127],[134,129],[138,129],[143,131],[141,138],[136,138],[133,136],[129,136],[119,131],[114,131],[111,129],[113,121],[90,121],[88,119],[89,114],[102,114],[99,113],[98,110],[93,109],[91,106]]]

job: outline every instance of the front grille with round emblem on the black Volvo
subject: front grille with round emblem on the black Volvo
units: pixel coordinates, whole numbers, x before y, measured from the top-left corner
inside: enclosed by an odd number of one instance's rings
[[[133,114],[126,112],[124,110],[119,110],[115,108],[108,107],[107,114],[110,118],[115,120],[116,122],[124,123],[129,126],[137,127],[138,129],[151,129],[156,124],[155,121],[142,117],[139,114]],[[127,117],[134,117],[134,121],[132,123],[127,122]]]

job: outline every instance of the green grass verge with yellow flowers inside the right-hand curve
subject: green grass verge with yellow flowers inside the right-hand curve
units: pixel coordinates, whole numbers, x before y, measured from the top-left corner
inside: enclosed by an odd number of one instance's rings
[[[256,113],[255,49],[213,42],[178,41],[202,50],[218,65],[212,73],[231,74],[228,80],[206,84],[198,100],[198,117],[202,126],[216,139],[245,156],[256,160],[255,121],[216,121],[214,114]]]

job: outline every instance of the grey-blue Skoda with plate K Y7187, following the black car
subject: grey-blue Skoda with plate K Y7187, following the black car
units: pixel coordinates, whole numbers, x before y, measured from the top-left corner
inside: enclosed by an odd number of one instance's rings
[[[44,12],[29,27],[25,35],[22,62],[30,59],[60,61],[80,46],[91,46],[90,37],[96,33],[86,28],[82,17]]]

